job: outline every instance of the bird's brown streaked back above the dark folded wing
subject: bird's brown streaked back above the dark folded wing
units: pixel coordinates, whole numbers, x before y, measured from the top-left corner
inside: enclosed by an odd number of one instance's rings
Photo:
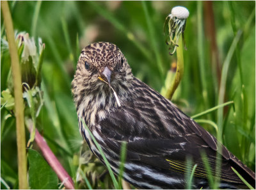
[[[136,102],[122,102],[122,106],[112,111],[104,120],[104,125],[113,126],[115,136],[124,134],[125,141],[132,139],[168,139],[180,136],[195,136],[193,143],[218,150],[217,141],[198,123],[186,116],[169,100],[154,91],[147,84],[140,84],[134,93],[138,94]],[[135,89],[135,88],[134,88]],[[102,125],[100,123],[100,125]],[[113,134],[114,135],[114,134]],[[195,140],[197,139],[198,142]],[[222,146],[222,155],[230,159],[230,153]]]

